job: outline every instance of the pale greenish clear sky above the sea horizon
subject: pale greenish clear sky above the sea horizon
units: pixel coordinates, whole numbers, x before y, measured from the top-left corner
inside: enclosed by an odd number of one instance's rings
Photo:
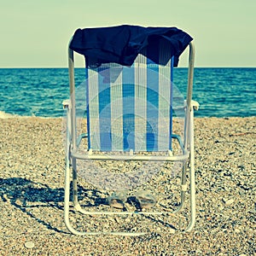
[[[122,24],[188,32],[195,67],[256,67],[255,10],[255,0],[0,0],[0,68],[67,67],[77,28]]]

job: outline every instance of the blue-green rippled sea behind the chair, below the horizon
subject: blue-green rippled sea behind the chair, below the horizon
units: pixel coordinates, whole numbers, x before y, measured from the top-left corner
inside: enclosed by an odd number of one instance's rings
[[[185,95],[188,69],[174,69],[174,84]],[[75,83],[83,84],[84,69],[75,69]],[[62,117],[62,101],[69,97],[67,68],[1,68],[0,117],[4,114]],[[195,117],[256,116],[256,67],[195,67]]]

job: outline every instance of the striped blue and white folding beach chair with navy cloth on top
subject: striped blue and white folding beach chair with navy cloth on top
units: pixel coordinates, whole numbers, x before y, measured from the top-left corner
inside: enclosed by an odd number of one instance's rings
[[[88,211],[79,203],[79,168],[82,169],[81,176],[95,187],[122,191],[122,188],[132,189],[141,183],[146,183],[150,177],[157,176],[159,174],[157,166],[166,162],[181,163],[179,171],[181,197],[174,213],[183,209],[186,192],[189,192],[190,216],[185,231],[193,229],[195,225],[193,119],[194,109],[197,109],[199,104],[192,101],[195,49],[191,41],[192,38],[187,33],[177,28],[116,26],[79,29],[74,33],[68,46],[70,99],[63,102],[67,116],[64,218],[67,229],[73,234],[140,236],[145,232],[77,230],[70,222],[71,198],[73,198],[73,210],[83,213],[84,218],[89,215],[147,217],[166,214],[165,211],[154,212],[150,209],[113,211],[111,207],[108,207],[109,211],[104,212]],[[173,67],[177,66],[178,56],[188,45],[187,95],[185,100],[174,108],[173,105],[177,101],[175,97],[178,96],[174,91]],[[83,86],[80,86],[82,93],[76,92],[78,88],[74,83],[74,51],[84,55],[85,59],[85,79]],[[83,93],[84,96],[81,96]],[[84,133],[81,131],[83,129],[80,129],[80,125],[84,125],[83,117],[78,117],[81,106],[86,115]],[[173,133],[174,111],[183,111],[182,135]],[[174,154],[173,141],[177,142],[177,154]],[[125,172],[118,170],[118,172],[98,175],[94,162],[99,160],[104,163],[146,161],[152,163],[148,166],[154,166],[154,171],[146,172],[138,168],[137,172],[141,176],[146,173],[141,183],[135,181],[134,176],[129,176],[134,172],[125,175]],[[100,182],[96,182],[97,175],[102,177]],[[113,178],[109,177],[111,175]]]

